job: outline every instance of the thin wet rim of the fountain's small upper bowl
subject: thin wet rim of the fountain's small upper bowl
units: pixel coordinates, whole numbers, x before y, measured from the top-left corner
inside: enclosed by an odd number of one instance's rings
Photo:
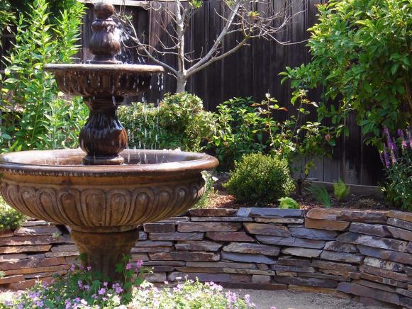
[[[112,73],[162,73],[165,69],[153,64],[45,64],[48,72],[112,72]]]

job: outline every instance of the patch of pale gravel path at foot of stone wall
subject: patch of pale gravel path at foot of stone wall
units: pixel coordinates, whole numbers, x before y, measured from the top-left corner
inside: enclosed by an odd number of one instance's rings
[[[382,309],[384,307],[364,306],[352,300],[337,298],[321,293],[302,293],[298,291],[261,291],[261,290],[231,290],[240,296],[250,295],[257,309]]]

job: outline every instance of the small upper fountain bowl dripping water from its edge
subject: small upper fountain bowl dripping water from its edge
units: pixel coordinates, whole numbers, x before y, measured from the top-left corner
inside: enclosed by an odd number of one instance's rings
[[[57,85],[77,96],[131,96],[149,89],[152,74],[163,67],[149,64],[46,64]]]

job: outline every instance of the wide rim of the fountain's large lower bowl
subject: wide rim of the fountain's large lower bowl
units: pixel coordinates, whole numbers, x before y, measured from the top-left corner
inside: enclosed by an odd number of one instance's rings
[[[123,150],[123,157],[128,152],[140,152],[144,154],[177,154],[194,159],[186,159],[174,162],[153,164],[123,164],[123,165],[52,165],[52,164],[30,164],[16,162],[16,159],[24,157],[38,157],[38,159],[50,159],[53,154],[67,154],[72,157],[84,157],[84,152],[77,149],[64,150],[28,150],[22,152],[10,152],[0,155],[0,173],[36,174],[43,176],[54,176],[65,174],[82,176],[156,176],[182,172],[201,172],[218,166],[218,159],[209,154],[197,152],[182,152],[179,150]],[[43,154],[43,157],[40,156]]]

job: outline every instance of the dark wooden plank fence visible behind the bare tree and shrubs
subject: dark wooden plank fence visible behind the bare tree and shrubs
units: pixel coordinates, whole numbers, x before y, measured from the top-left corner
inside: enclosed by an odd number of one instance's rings
[[[83,0],[90,2],[89,0]],[[275,9],[282,9],[291,0],[273,0]],[[278,33],[280,41],[300,42],[308,38],[307,29],[316,23],[316,5],[325,3],[326,0],[298,0],[291,6],[292,13],[304,10],[293,18],[289,26]],[[139,32],[144,32],[150,42],[156,42],[157,35],[166,40],[166,35],[161,34],[159,22],[164,21],[165,16],[157,11],[147,11],[143,8],[145,1],[127,1],[127,11],[133,13],[135,26]],[[171,1],[162,3],[172,6]],[[90,25],[93,21],[91,5],[87,16],[84,18],[83,60],[89,59],[87,42],[91,35]],[[195,55],[204,52],[205,47],[213,44],[218,35],[222,21],[216,15],[221,12],[220,0],[206,0],[204,6],[193,18],[191,30],[187,37],[187,48],[194,51]],[[237,38],[233,35],[225,41],[225,47],[229,48]],[[127,57],[133,57],[133,52],[127,52]],[[216,62],[204,71],[197,73],[189,80],[187,90],[197,94],[204,100],[206,109],[213,111],[216,106],[232,98],[233,96],[252,96],[260,101],[266,93],[272,94],[279,102],[289,102],[291,89],[289,84],[281,86],[279,72],[286,66],[296,67],[308,62],[308,48],[305,43],[295,45],[279,45],[273,41],[255,40],[250,46],[243,47],[234,55]],[[169,63],[174,63],[173,57],[168,57]],[[146,94],[147,101],[157,101],[162,94],[175,89],[173,77],[165,74],[164,89],[157,86],[157,79],[152,81],[152,90]],[[312,91],[310,99],[318,101],[321,89]],[[289,115],[290,116],[290,115]],[[343,137],[333,150],[332,157],[318,159],[316,169],[311,172],[311,177],[320,181],[336,181],[338,178],[348,184],[375,185],[382,179],[382,165],[379,161],[377,150],[374,147],[364,145],[362,132],[356,124],[355,115],[347,119],[347,127],[350,129],[349,137]]]

